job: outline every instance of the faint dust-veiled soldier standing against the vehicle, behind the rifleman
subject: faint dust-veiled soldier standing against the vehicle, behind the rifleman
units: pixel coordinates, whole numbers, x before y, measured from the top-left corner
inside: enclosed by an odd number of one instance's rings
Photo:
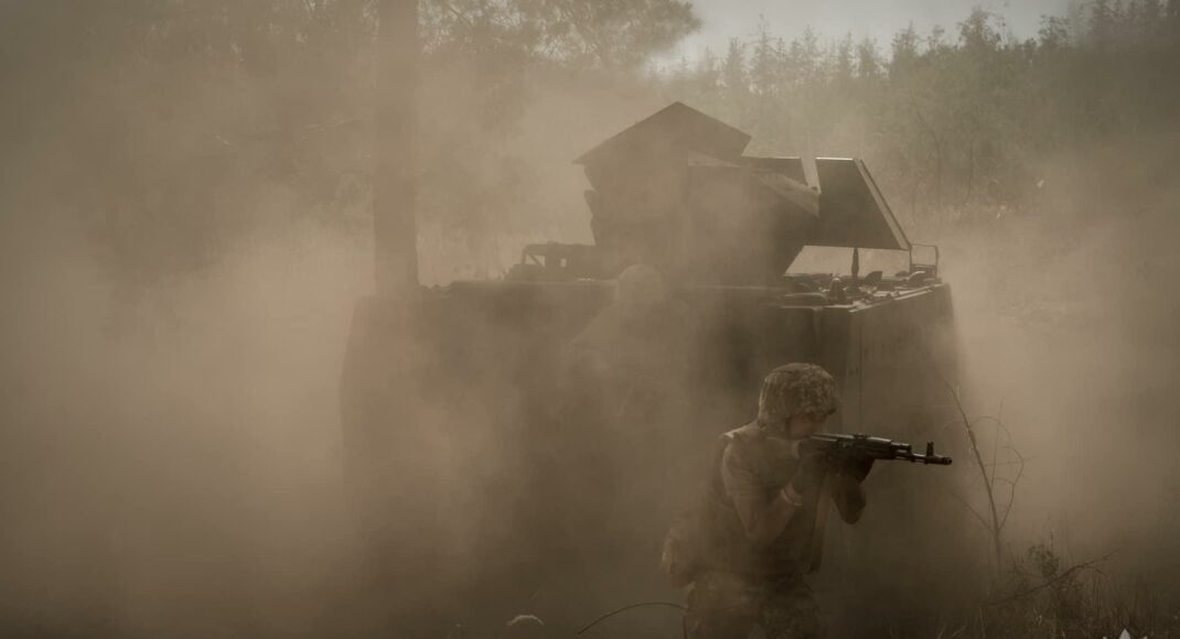
[[[658,270],[632,265],[615,299],[566,351],[560,468],[548,479],[572,556],[577,592],[603,607],[657,597],[667,587],[651,565],[677,498],[691,494],[693,468],[677,454],[688,402],[693,324]],[[687,448],[687,446],[686,446]],[[594,486],[594,490],[585,490]],[[560,495],[579,494],[569,500]],[[624,542],[620,542],[625,540]],[[592,579],[588,579],[591,575]]]

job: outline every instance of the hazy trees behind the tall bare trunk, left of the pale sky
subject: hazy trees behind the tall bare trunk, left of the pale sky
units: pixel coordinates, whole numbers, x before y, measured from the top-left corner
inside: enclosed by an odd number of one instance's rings
[[[80,225],[120,288],[263,229],[363,237],[379,0],[0,2],[0,210]],[[421,0],[419,213],[518,223],[504,151],[539,74],[634,75],[699,26],[686,0]],[[131,292],[130,295],[135,295]]]

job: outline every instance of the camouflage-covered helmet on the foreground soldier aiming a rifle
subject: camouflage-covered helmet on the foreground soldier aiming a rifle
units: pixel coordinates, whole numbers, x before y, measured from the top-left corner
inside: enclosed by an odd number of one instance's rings
[[[839,407],[840,396],[832,375],[815,364],[793,363],[772,370],[762,380],[758,421],[781,423],[801,413],[820,420]]]

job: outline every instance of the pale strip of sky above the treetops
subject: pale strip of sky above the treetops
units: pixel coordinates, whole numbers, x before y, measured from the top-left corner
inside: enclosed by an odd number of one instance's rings
[[[824,41],[847,33],[860,39],[874,38],[883,50],[899,29],[913,22],[922,33],[942,25],[948,33],[981,6],[1004,17],[1017,38],[1036,35],[1041,17],[1064,14],[1080,0],[694,0],[703,26],[670,52],[669,60],[696,58],[704,47],[723,53],[730,38],[758,33],[765,19],[769,32],[792,39],[808,25]]]

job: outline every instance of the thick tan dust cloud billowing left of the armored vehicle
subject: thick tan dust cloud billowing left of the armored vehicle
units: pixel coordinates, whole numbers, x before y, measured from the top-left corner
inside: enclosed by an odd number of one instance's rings
[[[70,229],[6,222],[6,632],[310,633],[363,245],[293,229],[127,307]]]

